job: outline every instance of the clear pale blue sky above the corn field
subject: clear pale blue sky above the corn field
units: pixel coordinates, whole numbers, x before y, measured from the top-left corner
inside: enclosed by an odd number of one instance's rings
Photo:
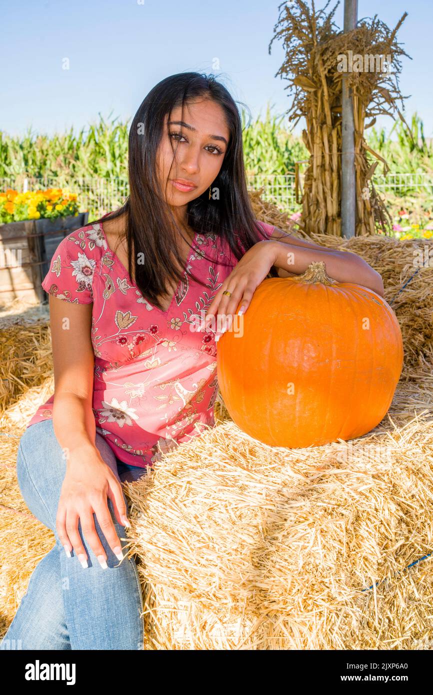
[[[161,79],[184,70],[215,72],[252,115],[289,105],[286,80],[275,78],[284,54],[268,44],[279,1],[272,0],[22,0],[3,3],[0,128],[22,135],[63,132],[104,117],[133,117]],[[317,0],[317,7],[325,1]],[[332,5],[331,5],[332,6]],[[433,136],[432,0],[359,0],[359,17],[378,13],[389,26],[408,17],[399,40],[402,92],[410,118],[418,111]],[[336,22],[342,26],[343,2]],[[70,70],[62,69],[69,58]],[[220,67],[212,70],[213,59]],[[391,119],[379,124],[389,124]]]

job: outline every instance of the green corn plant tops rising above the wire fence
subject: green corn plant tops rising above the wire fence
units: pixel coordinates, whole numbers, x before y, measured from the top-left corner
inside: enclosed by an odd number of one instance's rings
[[[294,136],[286,117],[272,114],[268,105],[263,118],[250,122],[241,112],[244,126],[245,168],[251,176],[286,175],[309,156],[301,136]],[[8,136],[0,130],[0,179],[67,177],[78,179],[127,179],[128,121],[104,120],[75,134]],[[394,139],[393,139],[394,138]],[[390,132],[370,130],[368,145],[394,172],[433,174],[433,146],[423,133],[423,122],[412,117],[411,133],[395,124]]]

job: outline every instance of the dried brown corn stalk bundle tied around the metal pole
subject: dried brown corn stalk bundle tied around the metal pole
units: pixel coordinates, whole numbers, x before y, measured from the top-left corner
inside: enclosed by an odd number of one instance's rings
[[[288,111],[289,120],[296,124],[304,117],[306,121],[302,138],[310,152],[310,161],[302,195],[303,229],[307,234],[341,236],[344,75],[352,89],[354,107],[356,235],[375,234],[375,223],[387,229],[391,218],[371,177],[379,161],[384,165],[384,174],[388,168],[368,147],[364,131],[375,124],[377,115],[383,114],[392,117],[398,114],[407,126],[397,106],[398,101],[405,99],[400,93],[398,74],[401,72],[400,56],[407,54],[395,38],[406,13],[393,30],[374,17],[360,20],[354,31],[343,33],[333,22],[336,6],[327,14],[328,5],[329,2],[316,11],[314,3],[311,10],[301,0],[286,3],[272,38],[272,41],[281,39],[286,50],[286,60],[277,74],[291,81],[288,89],[293,94],[293,104]],[[356,58],[355,63],[354,56],[361,56],[362,60]],[[382,56],[390,56],[388,65],[381,62]],[[350,71],[355,67],[356,70],[361,68],[361,72],[343,72],[343,69]],[[407,129],[410,130],[409,126]],[[375,160],[371,161],[368,155]]]

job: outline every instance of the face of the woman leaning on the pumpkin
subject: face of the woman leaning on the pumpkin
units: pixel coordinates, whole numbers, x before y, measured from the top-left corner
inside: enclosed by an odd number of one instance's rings
[[[229,144],[224,111],[211,99],[185,104],[181,121],[181,106],[173,109],[170,121],[165,116],[157,156],[161,190],[167,183],[166,200],[174,207],[186,206],[211,186]]]

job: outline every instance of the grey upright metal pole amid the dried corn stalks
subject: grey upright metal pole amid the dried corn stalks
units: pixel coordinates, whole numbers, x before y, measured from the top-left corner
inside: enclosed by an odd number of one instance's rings
[[[344,2],[344,31],[357,26],[358,0]],[[341,124],[341,234],[350,238],[355,234],[356,179],[354,165],[354,122],[352,90],[348,90],[347,78],[343,76],[343,109]]]

